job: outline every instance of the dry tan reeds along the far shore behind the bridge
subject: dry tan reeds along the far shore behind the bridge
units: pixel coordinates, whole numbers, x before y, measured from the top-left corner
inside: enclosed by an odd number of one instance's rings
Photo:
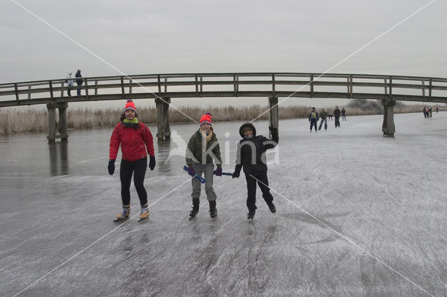
[[[279,119],[307,118],[312,107],[286,106],[279,107]],[[329,108],[333,113],[334,107]],[[423,105],[396,105],[395,113],[421,112]],[[435,109],[436,107],[432,107]],[[345,107],[347,116],[378,114],[376,110],[362,110]],[[439,110],[447,110],[447,106],[439,106]],[[320,108],[317,107],[317,111]],[[266,120],[269,117],[267,106],[251,105],[247,107],[179,107],[178,110],[170,107],[170,123],[190,123],[191,119],[200,119],[205,112],[212,112],[213,121],[251,121],[252,119]],[[67,109],[67,122],[69,129],[85,129],[94,127],[113,127],[122,114],[120,108]],[[185,116],[186,114],[187,116]],[[261,116],[259,116],[262,114]],[[189,117],[188,117],[189,116]],[[259,116],[259,117],[258,117]],[[189,119],[191,118],[191,119]],[[156,123],[156,109],[142,107],[138,109],[138,119],[143,123]],[[0,110],[0,135],[20,132],[46,132],[48,130],[48,113],[45,109],[24,108],[21,110]]]

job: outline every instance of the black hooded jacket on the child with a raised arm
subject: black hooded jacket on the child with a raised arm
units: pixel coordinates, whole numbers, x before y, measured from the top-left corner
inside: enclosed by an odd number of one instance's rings
[[[242,130],[247,126],[253,131],[251,139],[244,138],[242,133]],[[279,142],[278,134],[272,134],[272,139],[262,135],[256,136],[256,128],[251,123],[242,124],[239,128],[239,134],[243,139],[237,144],[235,172],[239,173],[242,167],[246,174],[266,172],[265,151],[277,146]]]

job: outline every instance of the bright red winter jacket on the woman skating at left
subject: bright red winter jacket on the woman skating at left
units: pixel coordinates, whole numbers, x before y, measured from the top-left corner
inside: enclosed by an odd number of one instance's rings
[[[138,128],[126,127],[124,123],[118,123],[110,137],[109,159],[116,160],[119,145],[121,144],[122,159],[134,162],[149,155],[154,155],[154,141],[152,133],[144,123],[139,123]],[[147,153],[146,153],[147,148]]]

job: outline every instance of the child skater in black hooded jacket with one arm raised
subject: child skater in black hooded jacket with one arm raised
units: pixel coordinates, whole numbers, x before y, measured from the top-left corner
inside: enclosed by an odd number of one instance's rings
[[[247,180],[247,208],[249,220],[254,218],[256,212],[256,182],[263,192],[263,198],[272,213],[276,213],[276,207],[273,204],[273,197],[270,194],[267,177],[267,162],[265,160],[265,151],[277,146],[279,137],[278,129],[269,127],[272,132],[272,139],[256,136],[256,128],[251,123],[244,123],[239,128],[239,134],[243,138],[237,144],[236,167],[233,172],[233,178],[240,176],[240,170],[243,168],[245,179]]]

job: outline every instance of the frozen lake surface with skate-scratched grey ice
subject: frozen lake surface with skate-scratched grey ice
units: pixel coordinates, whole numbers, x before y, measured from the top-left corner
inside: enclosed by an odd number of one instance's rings
[[[189,219],[176,148],[196,124],[172,125],[173,141],[154,143],[142,224],[112,222],[121,209],[119,174],[107,172],[112,128],[55,144],[0,136],[2,295],[447,296],[447,112],[397,114],[395,137],[382,136],[382,119],[348,116],[317,133],[307,119],[281,120],[268,154],[277,214],[258,190],[252,222],[243,175],[214,178],[216,219],[204,190]],[[224,172],[241,123],[213,125]],[[268,135],[266,121],[255,126]],[[131,216],[139,207],[131,185]]]

